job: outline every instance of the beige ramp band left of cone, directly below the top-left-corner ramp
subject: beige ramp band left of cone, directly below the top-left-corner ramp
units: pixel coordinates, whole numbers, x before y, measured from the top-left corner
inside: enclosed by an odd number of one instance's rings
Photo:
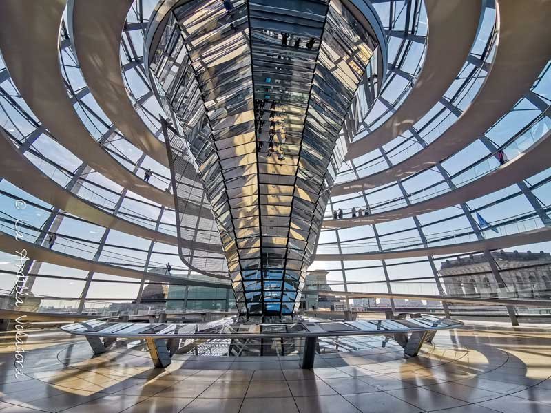
[[[23,191],[30,193],[40,200],[105,228],[115,229],[116,231],[147,240],[178,245],[178,240],[174,235],[154,231],[145,226],[124,220],[96,207],[83,198],[79,198],[75,193],[67,191],[67,189],[61,187],[61,185],[42,173],[23,154],[19,153],[2,128],[0,128],[0,153],[2,153],[0,169],[3,171],[3,178],[6,178],[12,184],[17,185]],[[194,232],[194,229],[189,230],[185,234],[187,236],[181,240],[181,243],[185,244],[186,248],[222,253],[222,246],[220,244],[194,242]],[[218,233],[216,233],[216,238],[218,238]]]

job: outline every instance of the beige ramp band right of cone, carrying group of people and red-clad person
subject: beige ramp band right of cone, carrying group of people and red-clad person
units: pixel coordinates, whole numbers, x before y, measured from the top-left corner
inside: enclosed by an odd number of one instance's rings
[[[417,202],[408,207],[373,213],[363,217],[324,220],[323,226],[324,228],[351,228],[353,226],[380,224],[382,222],[401,220],[402,218],[414,215],[438,211],[439,209],[461,204],[461,202],[474,200],[544,171],[549,167],[550,153],[551,131],[548,131],[547,134],[521,153],[521,155],[517,156],[517,158],[514,158],[514,160],[501,165],[501,167],[469,184],[444,193],[444,195],[439,195],[423,202]]]

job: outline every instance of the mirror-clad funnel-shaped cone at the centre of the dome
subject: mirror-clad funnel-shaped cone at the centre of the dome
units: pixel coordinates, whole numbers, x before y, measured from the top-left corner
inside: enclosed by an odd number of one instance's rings
[[[374,47],[339,0],[195,0],[171,12],[152,70],[185,131],[244,315],[300,304],[344,155],[333,151]]]

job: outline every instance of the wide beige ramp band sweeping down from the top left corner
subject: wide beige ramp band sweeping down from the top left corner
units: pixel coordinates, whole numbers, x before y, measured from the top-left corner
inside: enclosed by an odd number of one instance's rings
[[[76,114],[59,65],[63,10],[65,0],[0,1],[0,50],[21,96],[56,140],[90,167],[144,198],[174,207],[170,193],[116,162]]]

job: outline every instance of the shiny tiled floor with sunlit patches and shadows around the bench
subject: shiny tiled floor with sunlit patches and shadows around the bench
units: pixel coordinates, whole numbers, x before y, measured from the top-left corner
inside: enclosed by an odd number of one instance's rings
[[[295,359],[177,356],[165,370],[125,347],[92,357],[81,338],[28,332],[24,377],[0,336],[0,413],[550,413],[551,326],[467,322],[417,358],[397,346]]]

